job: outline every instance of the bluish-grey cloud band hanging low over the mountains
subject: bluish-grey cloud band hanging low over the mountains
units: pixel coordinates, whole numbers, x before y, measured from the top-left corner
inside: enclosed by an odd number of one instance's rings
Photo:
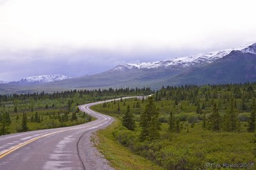
[[[76,49],[68,47],[37,50],[0,50],[0,80],[19,80],[42,74],[64,74],[77,77],[107,71],[118,64],[149,62],[184,57],[200,52],[243,45],[239,42],[211,48],[134,48],[130,50]]]

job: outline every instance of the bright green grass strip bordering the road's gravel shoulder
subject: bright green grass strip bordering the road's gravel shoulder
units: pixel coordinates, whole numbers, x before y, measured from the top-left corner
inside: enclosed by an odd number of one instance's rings
[[[120,145],[113,136],[113,131],[120,127],[120,120],[116,120],[106,129],[97,132],[99,143],[96,147],[115,169],[163,169],[150,160],[132,153],[128,148]]]

